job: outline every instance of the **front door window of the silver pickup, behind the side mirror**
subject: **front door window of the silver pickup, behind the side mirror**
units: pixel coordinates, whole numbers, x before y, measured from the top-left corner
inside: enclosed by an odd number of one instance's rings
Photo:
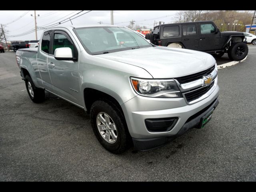
[[[54,51],[56,48],[62,48],[62,47],[69,47],[74,55],[74,44],[69,40],[69,38],[64,34],[54,34],[53,39],[53,47],[52,47],[52,53],[54,54]]]

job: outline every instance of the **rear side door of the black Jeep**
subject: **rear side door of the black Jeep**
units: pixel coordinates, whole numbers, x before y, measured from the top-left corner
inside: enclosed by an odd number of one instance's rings
[[[196,24],[182,25],[182,43],[186,49],[198,50],[199,33]]]

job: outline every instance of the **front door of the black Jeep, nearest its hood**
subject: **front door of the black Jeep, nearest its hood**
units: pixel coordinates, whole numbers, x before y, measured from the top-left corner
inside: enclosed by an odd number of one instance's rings
[[[213,23],[199,23],[199,48],[200,51],[218,50],[220,32],[216,34],[217,27]]]

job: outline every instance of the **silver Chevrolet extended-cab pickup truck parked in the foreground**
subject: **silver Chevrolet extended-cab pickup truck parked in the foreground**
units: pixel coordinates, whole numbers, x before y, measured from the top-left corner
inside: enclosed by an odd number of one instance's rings
[[[50,28],[16,60],[33,102],[48,91],[83,108],[99,142],[116,154],[203,128],[218,105],[210,54],[155,46],[126,27]]]

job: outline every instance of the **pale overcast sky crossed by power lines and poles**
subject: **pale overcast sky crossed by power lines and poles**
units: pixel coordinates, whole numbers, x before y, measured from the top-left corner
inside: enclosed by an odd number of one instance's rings
[[[37,26],[45,27],[51,24],[55,24],[73,16],[78,13],[79,10],[36,10]],[[81,12],[85,13],[86,10]],[[131,20],[134,20],[134,24],[140,26],[147,26],[153,28],[154,21],[171,23],[175,21],[176,10],[114,10],[114,25],[128,26]],[[32,16],[31,16],[32,14]],[[78,15],[80,15],[78,14]],[[75,16],[74,16],[75,17]],[[74,18],[72,17],[72,18]],[[62,19],[61,19],[62,18]],[[72,20],[73,25],[98,25],[98,22],[102,22],[101,25],[110,25],[110,10],[92,10],[87,14],[84,14],[78,18]],[[8,30],[6,34],[7,40],[36,40],[35,32],[26,34],[19,37],[11,37],[19,35],[24,32],[28,32],[35,28],[34,22],[34,10],[1,10],[0,11],[0,23],[4,24],[5,30]],[[60,24],[59,26],[72,25],[71,22]],[[41,37],[43,30],[37,31],[38,40]]]

